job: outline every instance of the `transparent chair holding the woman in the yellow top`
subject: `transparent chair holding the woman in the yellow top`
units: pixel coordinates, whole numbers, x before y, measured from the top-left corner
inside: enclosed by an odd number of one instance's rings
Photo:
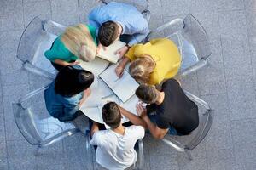
[[[149,32],[144,42],[150,39],[166,37],[176,43],[182,57],[182,65],[177,78],[184,77],[207,65],[212,54],[207,32],[192,14],[184,19],[175,19]]]

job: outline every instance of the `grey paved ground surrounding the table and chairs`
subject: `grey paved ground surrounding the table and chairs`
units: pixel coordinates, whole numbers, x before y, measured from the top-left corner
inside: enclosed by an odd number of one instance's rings
[[[33,155],[20,135],[11,103],[28,92],[28,76],[15,58],[22,31],[36,15],[63,25],[86,22],[89,0],[0,0],[0,169],[86,169],[84,136],[75,135]],[[145,169],[256,169],[256,1],[150,0],[150,27],[194,14],[212,44],[210,65],[183,80],[183,87],[212,105],[215,118],[193,161],[150,137]],[[96,166],[94,164],[95,169]]]

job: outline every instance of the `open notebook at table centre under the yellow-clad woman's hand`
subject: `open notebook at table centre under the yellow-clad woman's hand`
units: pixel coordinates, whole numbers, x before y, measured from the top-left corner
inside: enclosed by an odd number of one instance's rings
[[[139,84],[131,77],[128,71],[124,71],[124,74],[119,78],[115,73],[117,65],[110,65],[105,71],[103,71],[99,77],[102,78],[109,88],[113,90],[123,103],[131,98],[135,94],[135,91]]]

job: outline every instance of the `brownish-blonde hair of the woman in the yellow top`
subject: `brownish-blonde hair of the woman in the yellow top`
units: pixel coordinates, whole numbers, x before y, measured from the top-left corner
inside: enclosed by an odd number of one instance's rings
[[[129,72],[137,82],[144,84],[149,82],[150,74],[154,71],[155,62],[148,57],[139,57],[131,62]]]

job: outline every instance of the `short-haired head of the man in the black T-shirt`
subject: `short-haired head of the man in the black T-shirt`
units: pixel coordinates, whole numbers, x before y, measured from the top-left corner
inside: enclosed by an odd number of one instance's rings
[[[135,94],[139,99],[146,104],[154,104],[159,96],[159,91],[155,89],[153,86],[149,85],[140,85],[137,89]]]

